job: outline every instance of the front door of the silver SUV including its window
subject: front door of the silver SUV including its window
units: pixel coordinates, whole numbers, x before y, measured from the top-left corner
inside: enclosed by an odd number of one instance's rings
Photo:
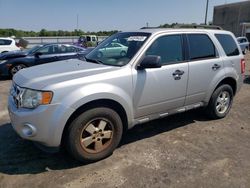
[[[133,73],[135,118],[180,108],[185,103],[188,64],[185,62],[182,35],[164,35],[146,50],[145,56],[161,57],[161,68]]]

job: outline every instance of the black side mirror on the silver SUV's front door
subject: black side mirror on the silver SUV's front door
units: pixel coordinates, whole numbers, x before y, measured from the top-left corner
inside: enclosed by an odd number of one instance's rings
[[[137,66],[139,70],[150,68],[161,68],[161,57],[155,55],[148,55],[143,58],[141,63]]]

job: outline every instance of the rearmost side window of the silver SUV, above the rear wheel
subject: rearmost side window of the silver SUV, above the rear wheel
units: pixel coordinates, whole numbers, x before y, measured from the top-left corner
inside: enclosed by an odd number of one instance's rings
[[[216,34],[215,36],[220,42],[227,56],[236,56],[240,54],[239,49],[231,35]]]

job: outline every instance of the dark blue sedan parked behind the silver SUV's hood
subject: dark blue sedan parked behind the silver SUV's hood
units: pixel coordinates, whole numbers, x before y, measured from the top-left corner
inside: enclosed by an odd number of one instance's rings
[[[20,69],[44,63],[81,58],[91,50],[68,44],[44,44],[26,51],[6,52],[0,55],[0,76],[13,76]]]

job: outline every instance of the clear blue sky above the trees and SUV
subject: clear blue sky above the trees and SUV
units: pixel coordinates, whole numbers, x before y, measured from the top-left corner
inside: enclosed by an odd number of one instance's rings
[[[213,7],[243,0],[209,0]],[[0,0],[0,28],[39,31],[130,30],[165,23],[203,23],[206,0]]]

